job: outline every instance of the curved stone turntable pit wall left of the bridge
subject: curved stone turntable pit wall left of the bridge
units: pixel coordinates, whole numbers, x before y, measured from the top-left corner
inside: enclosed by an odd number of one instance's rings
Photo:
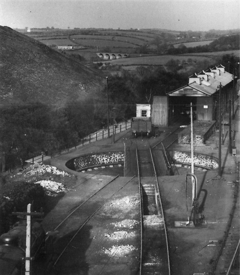
[[[76,171],[97,167],[101,165],[118,164],[124,162],[123,152],[104,152],[90,155],[82,155],[74,159],[73,164]]]

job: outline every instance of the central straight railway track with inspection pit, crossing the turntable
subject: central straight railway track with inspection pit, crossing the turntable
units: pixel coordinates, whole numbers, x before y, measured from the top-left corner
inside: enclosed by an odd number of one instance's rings
[[[170,275],[167,231],[150,146],[136,143],[141,197],[140,275]]]

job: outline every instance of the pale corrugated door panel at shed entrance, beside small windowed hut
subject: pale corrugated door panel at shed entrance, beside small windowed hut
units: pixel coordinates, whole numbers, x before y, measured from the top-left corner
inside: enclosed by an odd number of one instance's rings
[[[154,96],[152,104],[152,124],[168,126],[168,97]]]

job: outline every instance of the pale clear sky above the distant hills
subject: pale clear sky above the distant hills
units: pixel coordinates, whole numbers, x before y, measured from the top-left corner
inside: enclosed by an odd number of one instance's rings
[[[1,0],[10,28],[237,29],[239,0]]]

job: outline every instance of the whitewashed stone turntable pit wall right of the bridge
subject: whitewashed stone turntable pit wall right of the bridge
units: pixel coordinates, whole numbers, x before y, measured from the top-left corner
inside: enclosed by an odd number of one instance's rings
[[[191,152],[172,151],[172,158],[175,162],[191,164]],[[215,169],[218,167],[218,159],[210,155],[194,153],[193,163],[196,166]]]

